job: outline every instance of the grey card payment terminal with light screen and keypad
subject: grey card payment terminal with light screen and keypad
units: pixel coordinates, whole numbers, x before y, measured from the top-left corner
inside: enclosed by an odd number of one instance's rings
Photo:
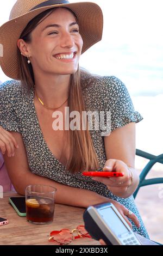
[[[83,214],[85,229],[106,245],[141,245],[127,222],[111,203],[92,205]]]

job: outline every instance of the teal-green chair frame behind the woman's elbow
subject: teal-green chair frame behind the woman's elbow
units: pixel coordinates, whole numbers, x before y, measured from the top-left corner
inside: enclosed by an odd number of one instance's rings
[[[136,155],[149,159],[150,161],[146,164],[145,168],[143,168],[140,174],[140,182],[139,182],[139,186],[137,187],[136,191],[133,194],[134,198],[136,197],[137,192],[140,190],[140,187],[163,183],[163,178],[145,179],[149,170],[151,170],[152,166],[156,162],[163,163],[163,154],[159,156],[155,156],[155,155],[146,153],[145,151],[142,151],[140,149],[136,149]]]

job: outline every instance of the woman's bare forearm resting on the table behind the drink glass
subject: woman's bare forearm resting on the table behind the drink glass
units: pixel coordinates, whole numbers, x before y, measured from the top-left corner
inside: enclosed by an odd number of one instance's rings
[[[100,196],[96,192],[82,190],[76,187],[70,187],[60,184],[51,179],[33,174],[28,166],[26,149],[20,133],[10,132],[14,136],[18,149],[15,149],[15,156],[8,157],[4,155],[5,166],[15,190],[24,195],[24,189],[30,184],[45,184],[57,188],[56,202],[73,206],[87,207],[90,204],[109,202],[109,199]]]

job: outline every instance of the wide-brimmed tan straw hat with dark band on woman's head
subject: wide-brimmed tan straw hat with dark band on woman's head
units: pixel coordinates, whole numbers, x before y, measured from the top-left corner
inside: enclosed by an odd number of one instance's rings
[[[43,11],[55,7],[66,7],[76,14],[83,39],[82,53],[102,39],[103,14],[96,3],[70,3],[65,0],[18,0],[11,10],[9,21],[0,27],[0,65],[5,75],[20,80],[17,40],[30,20]]]

